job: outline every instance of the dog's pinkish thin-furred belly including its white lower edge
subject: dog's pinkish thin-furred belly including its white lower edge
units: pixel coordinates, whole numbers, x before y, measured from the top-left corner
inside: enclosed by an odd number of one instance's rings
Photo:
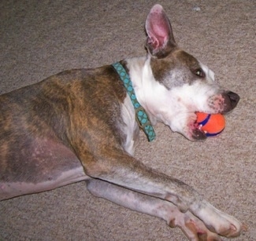
[[[28,144],[26,152],[21,142]],[[36,137],[32,141],[20,138],[17,146],[20,152],[11,156],[0,154],[0,200],[48,191],[88,178],[76,155],[53,138]],[[8,162],[7,157],[11,157]]]

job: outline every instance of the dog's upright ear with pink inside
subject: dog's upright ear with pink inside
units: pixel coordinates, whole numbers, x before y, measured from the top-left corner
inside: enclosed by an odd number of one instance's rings
[[[176,47],[172,26],[161,5],[154,5],[150,10],[146,31],[146,47],[153,57],[164,58]]]

